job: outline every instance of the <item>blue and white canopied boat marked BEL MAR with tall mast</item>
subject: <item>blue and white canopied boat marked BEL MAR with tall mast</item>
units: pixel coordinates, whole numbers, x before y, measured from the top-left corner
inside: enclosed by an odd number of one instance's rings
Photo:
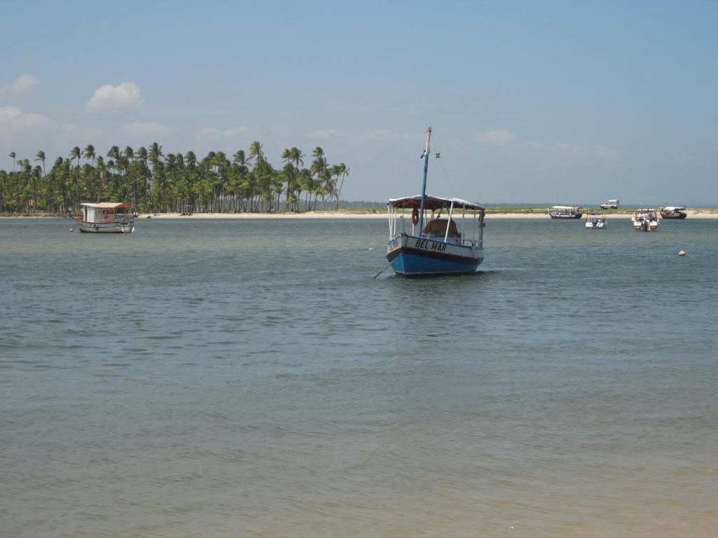
[[[422,155],[421,194],[391,198],[387,202],[386,259],[395,273],[408,277],[473,273],[484,259],[485,208],[460,198],[426,194],[431,137],[429,127]],[[410,219],[405,218],[407,212]],[[442,218],[442,214],[445,217]]]

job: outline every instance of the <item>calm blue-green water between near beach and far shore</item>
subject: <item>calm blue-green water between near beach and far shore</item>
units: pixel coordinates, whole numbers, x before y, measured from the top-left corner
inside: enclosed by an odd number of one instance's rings
[[[0,220],[0,535],[714,537],[718,220]],[[679,250],[686,258],[679,258]]]

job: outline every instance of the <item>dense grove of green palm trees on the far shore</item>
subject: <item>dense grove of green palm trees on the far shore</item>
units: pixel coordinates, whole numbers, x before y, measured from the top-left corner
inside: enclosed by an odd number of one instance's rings
[[[112,146],[107,159],[88,144],[57,157],[46,172],[45,151],[18,159],[12,170],[0,170],[0,212],[77,212],[83,202],[129,202],[136,212],[302,212],[327,201],[339,207],[349,169],[330,165],[325,151],[312,151],[309,167],[299,148],[281,152],[282,167],[271,165],[262,144],[231,159],[210,151],[198,159],[194,151],[163,154],[157,142],[149,148],[121,150]]]

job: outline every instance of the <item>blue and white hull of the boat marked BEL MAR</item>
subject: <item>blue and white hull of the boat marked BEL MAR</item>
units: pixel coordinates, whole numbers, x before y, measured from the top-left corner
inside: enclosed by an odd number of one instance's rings
[[[398,275],[460,275],[475,272],[483,261],[483,249],[476,245],[402,235],[389,242],[386,259]]]

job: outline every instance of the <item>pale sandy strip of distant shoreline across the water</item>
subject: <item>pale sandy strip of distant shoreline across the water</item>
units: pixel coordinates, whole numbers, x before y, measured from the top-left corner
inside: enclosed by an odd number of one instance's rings
[[[718,208],[701,208],[701,209],[687,209],[689,219],[718,219]],[[633,212],[623,213],[606,213],[608,219],[630,219]],[[582,220],[586,217],[584,216]],[[64,219],[67,218],[62,214],[10,214],[0,213],[0,219],[41,219],[41,218],[52,218],[52,219]],[[320,220],[331,220],[331,219],[386,219],[386,212],[376,213],[360,213],[350,211],[312,211],[305,213],[192,213],[192,214],[180,214],[180,213],[141,213],[136,220],[142,219],[176,219],[176,220],[295,220],[295,219],[320,219]],[[407,214],[409,218],[409,214]],[[549,219],[549,215],[546,212],[519,212],[516,209],[509,209],[508,211],[502,212],[487,212],[486,220],[497,220],[497,219]]]

